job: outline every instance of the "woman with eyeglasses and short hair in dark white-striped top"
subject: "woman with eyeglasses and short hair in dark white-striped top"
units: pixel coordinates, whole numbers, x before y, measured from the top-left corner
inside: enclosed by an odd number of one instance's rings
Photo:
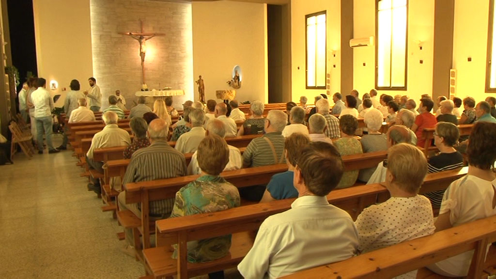
[[[463,156],[453,147],[460,137],[458,127],[453,123],[439,122],[435,126],[434,145],[439,154],[429,158],[429,173],[440,172],[463,167]],[[425,194],[434,208],[441,207],[444,190]]]

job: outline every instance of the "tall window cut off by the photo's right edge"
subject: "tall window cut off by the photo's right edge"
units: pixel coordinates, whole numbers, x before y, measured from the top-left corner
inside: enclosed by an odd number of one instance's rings
[[[486,92],[496,92],[496,26],[495,26],[495,1],[489,2],[489,28],[488,28],[488,56],[486,68]]]

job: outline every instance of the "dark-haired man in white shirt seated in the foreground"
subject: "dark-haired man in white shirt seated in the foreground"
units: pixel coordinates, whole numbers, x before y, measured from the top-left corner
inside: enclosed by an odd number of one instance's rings
[[[353,220],[326,198],[343,170],[339,152],[327,142],[313,141],[302,150],[293,179],[298,199],[260,225],[253,247],[238,265],[244,278],[279,278],[356,254]]]

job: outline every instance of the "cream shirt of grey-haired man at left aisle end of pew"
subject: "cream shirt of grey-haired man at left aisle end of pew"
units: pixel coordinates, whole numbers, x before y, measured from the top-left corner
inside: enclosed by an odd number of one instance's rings
[[[124,129],[119,128],[117,124],[106,125],[102,131],[98,132],[91,139],[91,146],[86,153],[88,158],[93,158],[93,150],[103,147],[113,147],[131,144],[131,137]]]

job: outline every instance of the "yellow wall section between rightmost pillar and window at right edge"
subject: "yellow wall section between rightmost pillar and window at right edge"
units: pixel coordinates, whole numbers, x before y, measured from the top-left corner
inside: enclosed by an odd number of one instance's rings
[[[486,61],[489,23],[488,0],[455,1],[453,68],[457,70],[456,96],[472,96],[477,102],[488,96]],[[468,58],[472,62],[468,62]]]

